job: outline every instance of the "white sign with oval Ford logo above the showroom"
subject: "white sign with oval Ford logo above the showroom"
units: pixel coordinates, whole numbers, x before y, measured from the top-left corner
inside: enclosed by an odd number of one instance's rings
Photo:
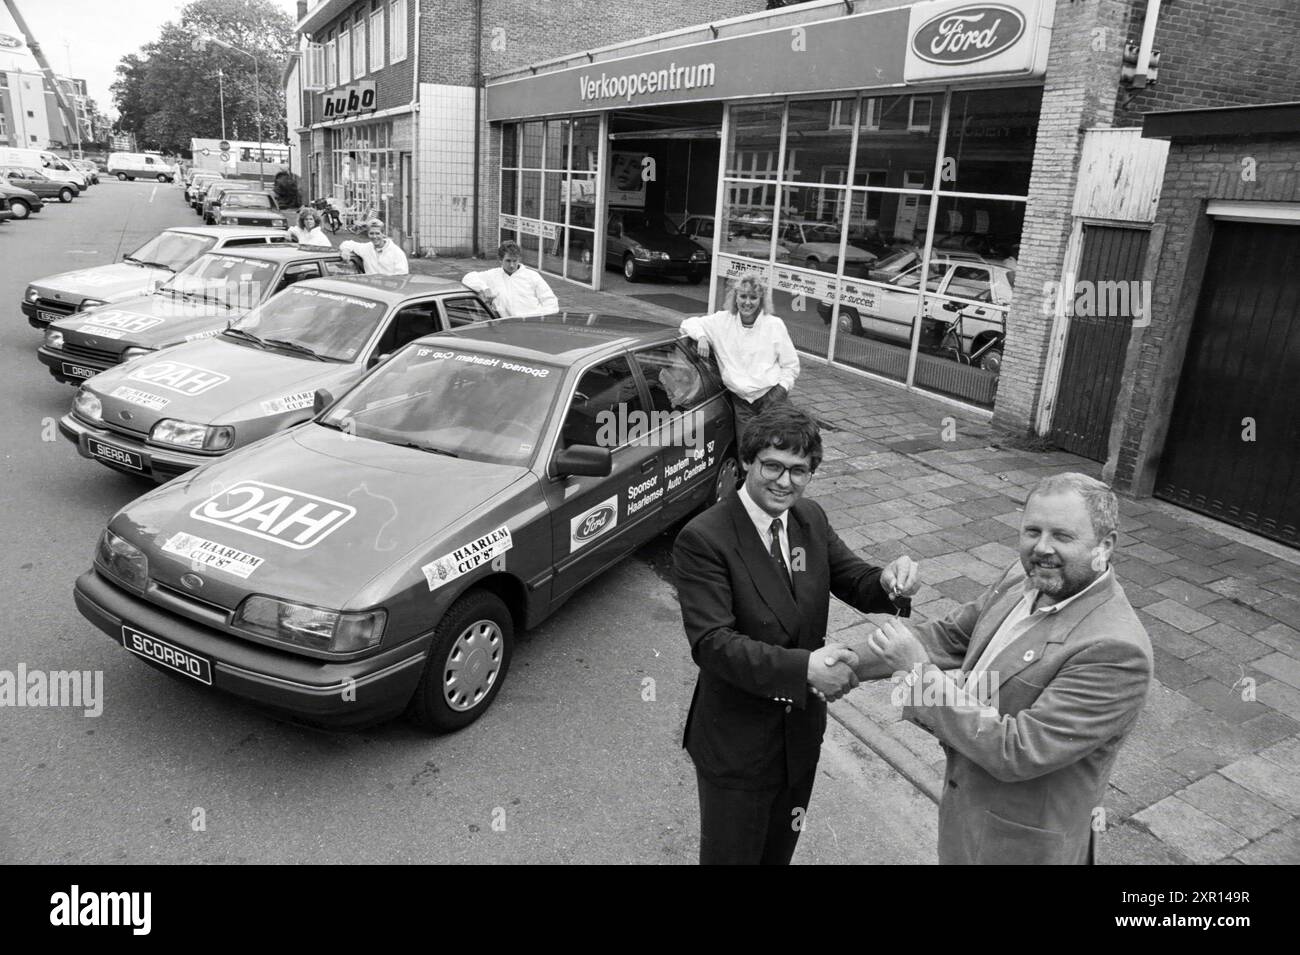
[[[1044,0],[916,4],[910,9],[904,78],[1043,75],[1053,12]]]

